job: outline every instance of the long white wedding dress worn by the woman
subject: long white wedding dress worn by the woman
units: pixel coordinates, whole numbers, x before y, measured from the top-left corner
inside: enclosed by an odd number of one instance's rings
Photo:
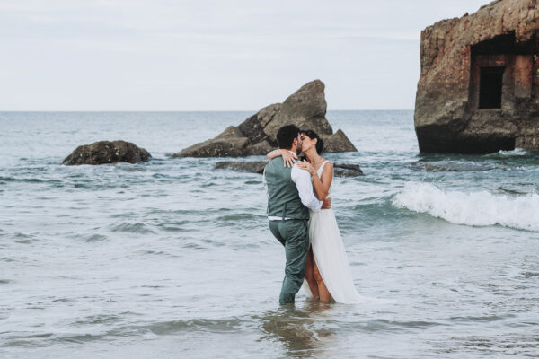
[[[322,178],[324,161],[318,169],[318,177]],[[331,186],[328,193],[331,192]],[[328,194],[329,197],[329,194]],[[313,249],[314,261],[322,276],[323,283],[330,291],[331,298],[339,303],[353,303],[362,300],[354,287],[349,259],[344,250],[339,227],[333,210],[321,209],[318,212],[309,211],[309,240]],[[304,290],[307,297],[313,293],[304,279]]]

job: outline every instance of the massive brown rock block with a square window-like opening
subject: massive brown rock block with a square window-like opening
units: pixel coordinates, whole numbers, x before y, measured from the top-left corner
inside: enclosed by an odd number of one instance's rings
[[[497,0],[421,32],[421,152],[539,150],[538,5]]]

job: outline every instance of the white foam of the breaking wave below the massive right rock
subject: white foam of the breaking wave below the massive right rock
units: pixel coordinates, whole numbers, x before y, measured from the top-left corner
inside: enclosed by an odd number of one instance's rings
[[[445,191],[409,182],[393,197],[393,206],[467,225],[503,225],[539,232],[539,195],[494,195],[488,191]]]

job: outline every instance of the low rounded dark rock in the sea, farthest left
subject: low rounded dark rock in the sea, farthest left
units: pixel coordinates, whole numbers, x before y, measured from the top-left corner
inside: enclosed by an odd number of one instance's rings
[[[137,163],[148,161],[152,155],[144,148],[125,141],[100,141],[75,148],[62,164],[103,164],[114,162]]]

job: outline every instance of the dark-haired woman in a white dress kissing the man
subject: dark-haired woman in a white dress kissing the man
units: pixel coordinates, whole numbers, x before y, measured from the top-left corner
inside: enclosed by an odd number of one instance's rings
[[[271,160],[282,156],[286,165],[296,164],[309,171],[313,188],[319,200],[330,197],[333,181],[333,163],[323,159],[323,140],[312,130],[301,131],[302,152],[306,161],[296,162],[287,150],[275,150],[268,153]],[[340,238],[339,227],[333,210],[321,209],[309,211],[309,240],[311,247],[305,267],[304,290],[307,296],[320,299],[321,302],[352,303],[361,297],[354,287],[349,260]],[[306,282],[306,285],[305,285]]]

